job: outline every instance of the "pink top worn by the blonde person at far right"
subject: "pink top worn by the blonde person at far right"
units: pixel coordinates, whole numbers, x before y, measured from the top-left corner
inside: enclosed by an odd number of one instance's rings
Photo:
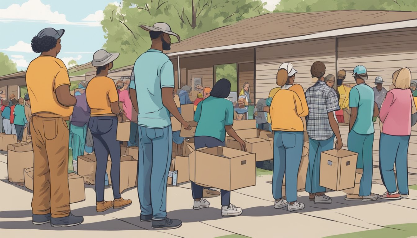
[[[388,135],[411,135],[413,95],[409,89],[389,90],[379,110],[382,132]]]

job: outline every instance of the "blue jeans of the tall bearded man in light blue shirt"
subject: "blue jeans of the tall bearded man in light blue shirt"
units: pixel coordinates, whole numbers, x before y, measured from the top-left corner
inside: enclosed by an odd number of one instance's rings
[[[171,165],[172,128],[146,128],[138,125],[138,195],[141,215],[154,220],[166,218],[166,183]]]

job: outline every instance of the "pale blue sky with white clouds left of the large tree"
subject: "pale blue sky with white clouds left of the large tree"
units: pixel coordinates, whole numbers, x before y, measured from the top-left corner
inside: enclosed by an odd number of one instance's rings
[[[64,63],[75,59],[83,64],[103,47],[100,11],[115,0],[5,0],[0,1],[0,52],[25,70],[39,54],[33,53],[30,40],[43,28],[65,29],[58,55]],[[117,4],[117,3],[116,3]],[[49,6],[48,6],[49,5]],[[98,12],[97,12],[98,11]],[[68,65],[67,65],[68,66]]]

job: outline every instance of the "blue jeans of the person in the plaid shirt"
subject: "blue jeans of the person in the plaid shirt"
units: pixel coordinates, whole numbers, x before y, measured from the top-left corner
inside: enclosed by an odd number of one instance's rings
[[[323,151],[333,149],[333,135],[327,140],[309,138],[309,167],[306,176],[306,191],[309,193],[323,193],[326,188],[320,186],[320,158]]]

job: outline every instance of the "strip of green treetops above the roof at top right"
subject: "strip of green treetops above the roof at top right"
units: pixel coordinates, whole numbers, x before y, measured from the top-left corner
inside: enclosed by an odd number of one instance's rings
[[[281,0],[275,13],[305,13],[331,10],[417,11],[415,0]]]

